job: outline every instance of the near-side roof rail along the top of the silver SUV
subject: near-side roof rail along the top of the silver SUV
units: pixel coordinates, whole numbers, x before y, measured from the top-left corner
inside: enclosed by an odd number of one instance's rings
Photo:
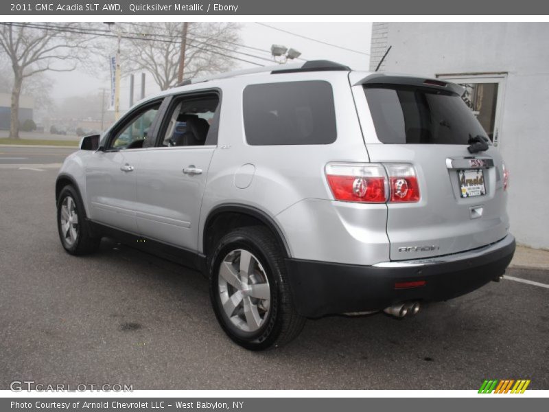
[[[334,71],[334,70],[349,71],[351,70],[351,68],[348,66],[340,65],[339,63],[336,63],[336,62],[331,62],[329,60],[309,60],[304,63],[290,63],[287,65],[255,67],[253,69],[228,71],[226,73],[213,74],[211,76],[204,76],[201,78],[187,79],[177,84],[175,87],[187,86],[187,84],[209,82],[210,80],[233,78],[237,76],[247,76],[249,74],[255,74],[255,73],[270,72],[272,74],[281,74],[281,73],[298,73],[300,71]]]

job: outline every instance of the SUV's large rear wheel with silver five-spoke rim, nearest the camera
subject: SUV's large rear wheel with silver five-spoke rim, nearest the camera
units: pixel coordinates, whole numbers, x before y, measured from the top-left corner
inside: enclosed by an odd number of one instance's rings
[[[209,264],[215,316],[229,337],[249,350],[278,347],[305,323],[290,295],[279,246],[264,227],[244,227],[224,236]]]

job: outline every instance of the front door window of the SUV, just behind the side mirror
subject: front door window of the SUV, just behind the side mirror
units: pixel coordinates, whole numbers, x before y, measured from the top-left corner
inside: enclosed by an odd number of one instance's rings
[[[110,147],[113,149],[142,148],[145,140],[151,138],[152,122],[154,122],[154,117],[156,117],[159,108],[160,102],[143,109],[137,117],[133,117],[128,124],[122,126]]]

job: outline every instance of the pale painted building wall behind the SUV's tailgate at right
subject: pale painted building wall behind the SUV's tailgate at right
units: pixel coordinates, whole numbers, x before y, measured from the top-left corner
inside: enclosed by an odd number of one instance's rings
[[[383,24],[393,47],[380,71],[507,73],[499,148],[511,171],[511,231],[549,249],[549,23]]]

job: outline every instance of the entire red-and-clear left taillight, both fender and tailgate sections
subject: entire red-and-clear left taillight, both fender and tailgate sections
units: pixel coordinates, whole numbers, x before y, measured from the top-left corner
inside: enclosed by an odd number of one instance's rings
[[[419,202],[419,184],[406,163],[328,163],[326,177],[336,201]]]

